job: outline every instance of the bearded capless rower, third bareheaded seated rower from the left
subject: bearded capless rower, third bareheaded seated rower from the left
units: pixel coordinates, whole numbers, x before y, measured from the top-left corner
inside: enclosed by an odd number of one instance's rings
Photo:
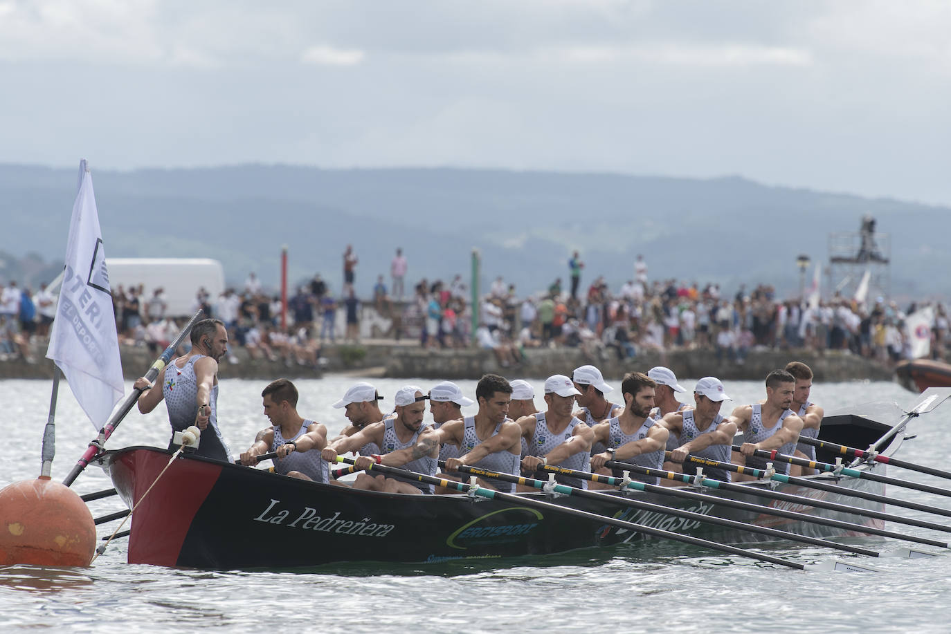
[[[660,470],[664,465],[664,448],[667,446],[667,428],[650,418],[654,407],[654,390],[657,384],[650,376],[632,372],[621,381],[624,396],[624,411],[594,427],[594,440],[607,449],[592,455],[592,471],[601,470],[609,460]],[[620,477],[622,470],[614,469]],[[631,479],[657,484],[657,476],[631,473]]]

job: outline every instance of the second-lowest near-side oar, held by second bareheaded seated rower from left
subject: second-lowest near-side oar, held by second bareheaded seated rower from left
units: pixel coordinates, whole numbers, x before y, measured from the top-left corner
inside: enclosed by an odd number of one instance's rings
[[[470,473],[472,475],[478,475],[484,478],[491,478],[494,480],[501,480],[503,482],[514,482],[526,487],[534,487],[535,489],[546,490],[546,485],[548,484],[544,480],[536,480],[534,478],[526,478],[520,475],[513,475],[512,473],[501,473],[499,471],[485,471],[484,469],[479,469],[477,467],[470,467],[469,465],[460,465],[459,471],[463,473]],[[621,497],[618,495],[610,495],[608,493],[599,493],[592,490],[577,489],[576,487],[569,487],[567,485],[553,483],[552,490],[556,493],[565,493],[567,495],[574,495],[575,497],[584,497],[590,500],[600,500],[603,502],[609,502],[611,504],[619,504],[625,507],[631,507],[632,509],[641,509],[648,510],[654,513],[664,513],[666,515],[673,515],[675,517],[686,517],[695,522],[706,522],[707,524],[713,524],[721,527],[736,528],[738,530],[746,530],[747,532],[760,533],[762,535],[770,535],[772,537],[779,537],[781,539],[787,539],[791,542],[802,542],[803,544],[811,544],[813,546],[822,546],[825,548],[834,548],[837,550],[843,550],[844,552],[851,552],[852,554],[857,555],[867,555],[869,557],[878,557],[881,553],[875,550],[868,550],[867,548],[858,548],[853,546],[845,546],[842,544],[836,544],[835,542],[829,542],[825,539],[820,539],[818,537],[808,537],[805,535],[797,535],[796,533],[787,532],[786,530],[780,530],[778,528],[767,528],[760,527],[754,524],[747,524],[746,522],[737,522],[736,520],[730,520],[725,517],[716,517],[713,515],[705,515],[703,513],[697,513],[692,510],[684,509],[673,509],[670,507],[664,507],[659,504],[653,504],[651,502],[644,502],[642,500],[634,500],[630,497]],[[712,495],[707,496],[710,501],[713,501],[714,498]],[[756,505],[750,505],[756,506]]]

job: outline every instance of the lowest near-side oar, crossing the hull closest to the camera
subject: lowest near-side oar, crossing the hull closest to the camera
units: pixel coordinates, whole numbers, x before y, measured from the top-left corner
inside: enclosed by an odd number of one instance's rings
[[[337,461],[353,464],[354,461],[351,458],[345,458],[341,455],[337,456]],[[699,537],[690,537],[689,535],[680,535],[675,532],[670,532],[670,530],[662,530],[660,528],[650,528],[642,526],[640,524],[634,524],[633,522],[626,522],[624,520],[619,520],[613,517],[607,517],[605,515],[598,515],[597,513],[588,512],[587,510],[579,509],[568,509],[566,507],[558,506],[557,504],[552,504],[551,502],[542,502],[541,500],[533,500],[519,495],[514,495],[512,493],[503,493],[497,490],[490,490],[485,487],[472,486],[462,482],[456,482],[455,480],[445,480],[438,478],[432,475],[426,475],[424,473],[416,473],[414,471],[405,471],[402,469],[397,469],[395,467],[387,467],[385,465],[373,464],[370,466],[370,471],[379,471],[380,473],[386,475],[395,475],[401,478],[409,480],[417,480],[418,482],[423,482],[426,484],[438,485],[440,487],[445,487],[446,489],[455,489],[462,492],[469,492],[471,494],[478,495],[490,500],[502,500],[505,502],[510,502],[521,507],[528,507],[534,509],[544,509],[549,510],[554,513],[562,513],[564,515],[572,515],[573,517],[580,517],[583,519],[592,520],[592,522],[598,522],[601,524],[608,524],[613,527],[618,528],[627,528],[629,530],[634,530],[636,532],[644,533],[652,537],[660,537],[664,539],[670,539],[674,542],[681,542],[683,544],[689,544],[691,546],[699,546],[702,548],[708,548],[711,550],[719,550],[721,552],[728,552],[734,555],[742,555],[750,559],[756,559],[761,562],[767,562],[769,564],[777,564],[779,566],[796,568],[797,570],[806,570],[811,567],[806,566],[805,564],[800,564],[798,562],[790,562],[786,559],[781,559],[779,557],[771,557],[769,555],[763,555],[758,552],[753,552],[751,550],[746,550],[744,548],[736,548],[733,546],[728,546],[726,544],[717,544],[716,542],[710,542],[706,539],[700,539]],[[827,568],[826,568],[827,569]],[[844,562],[835,562],[833,564],[833,569],[856,569],[859,571],[868,571],[871,568],[857,567]]]

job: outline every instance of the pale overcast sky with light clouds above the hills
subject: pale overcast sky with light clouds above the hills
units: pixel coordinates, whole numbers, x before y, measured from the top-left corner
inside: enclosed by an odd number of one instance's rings
[[[0,0],[0,163],[742,175],[951,204],[949,32],[943,0]]]

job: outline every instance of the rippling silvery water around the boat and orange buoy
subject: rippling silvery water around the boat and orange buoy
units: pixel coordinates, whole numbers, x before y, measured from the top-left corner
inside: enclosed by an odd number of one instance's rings
[[[298,381],[299,411],[338,432],[346,421],[331,404],[356,380],[331,375]],[[534,381],[536,390],[541,382]],[[612,382],[619,385],[617,377]],[[417,383],[428,389],[433,382],[378,379],[375,383],[386,395],[383,403],[392,406],[393,394],[402,385]],[[466,394],[474,395],[475,381],[459,383]],[[689,388],[693,381],[681,383]],[[235,455],[267,424],[261,408],[265,384],[236,379],[222,383],[219,417]],[[736,404],[764,395],[761,383],[728,382],[726,387]],[[0,486],[38,475],[49,390],[48,382],[0,381],[0,429],[8,439],[6,459],[0,462]],[[891,383],[813,388],[813,400],[827,413],[869,402],[907,407],[914,399],[915,394]],[[65,384],[59,400],[53,477],[62,480],[95,431]],[[541,405],[541,399],[536,403]],[[472,407],[464,413],[475,411]],[[904,444],[903,459],[951,468],[942,459],[951,446],[951,403],[914,421],[908,433],[917,438]],[[146,416],[130,413],[108,445],[164,447],[167,437],[165,408],[160,406]],[[889,474],[951,486],[947,480],[898,469]],[[73,489],[86,493],[110,486],[103,471],[90,467]],[[893,488],[888,492],[951,507],[951,500],[936,496]],[[120,506],[116,497],[90,503],[93,515]],[[910,510],[889,510],[941,521]],[[101,525],[100,536],[118,524]],[[949,536],[891,524],[886,528],[939,539]],[[852,541],[877,550],[904,545],[877,538]],[[786,545],[776,545],[769,553],[803,563],[850,557]],[[227,632],[275,627],[348,632],[590,633],[605,627],[618,632],[951,630],[944,618],[951,605],[951,560],[862,559],[881,572],[800,572],[660,542],[514,559],[497,567],[349,565],[299,573],[206,572],[127,565],[126,540],[117,540],[89,568],[0,568],[0,632],[126,634],[199,627]]]

